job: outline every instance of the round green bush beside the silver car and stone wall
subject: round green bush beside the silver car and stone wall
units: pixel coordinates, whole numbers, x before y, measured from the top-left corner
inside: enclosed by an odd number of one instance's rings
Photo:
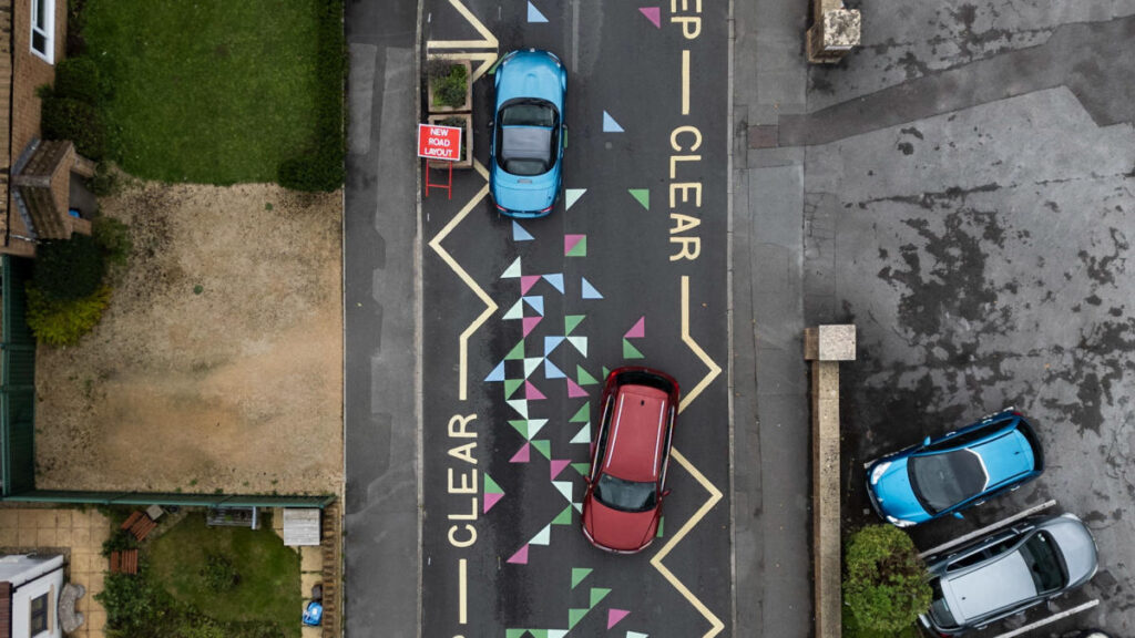
[[[844,556],[843,604],[865,632],[897,632],[930,608],[926,566],[910,537],[891,526],[851,536]]]

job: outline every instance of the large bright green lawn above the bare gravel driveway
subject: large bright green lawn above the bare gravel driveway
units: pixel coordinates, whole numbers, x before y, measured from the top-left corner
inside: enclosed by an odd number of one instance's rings
[[[317,73],[327,5],[87,0],[84,54],[114,86],[121,167],[165,182],[275,182],[314,142],[318,83],[340,92],[342,77]]]

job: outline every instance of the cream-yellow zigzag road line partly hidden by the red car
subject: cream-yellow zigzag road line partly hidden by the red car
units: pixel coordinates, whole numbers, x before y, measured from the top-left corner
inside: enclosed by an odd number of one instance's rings
[[[690,391],[690,393],[687,394],[684,398],[682,398],[681,404],[678,406],[679,412],[686,410],[689,406],[689,404],[692,403],[693,400],[697,398],[699,394],[701,394],[701,391],[704,391],[706,386],[708,386],[715,378],[717,378],[717,375],[721,375],[721,366],[718,366],[717,362],[715,362],[708,354],[706,354],[706,351],[701,350],[701,346],[699,346],[698,343],[693,341],[693,337],[690,336],[689,276],[682,277],[682,342],[686,343],[686,345],[689,346],[689,349],[692,350],[693,353],[698,355],[698,359],[700,359],[701,362],[705,363],[707,368],[709,368],[709,371],[706,372],[706,376],[703,377],[700,381],[698,381],[698,385],[693,386],[693,389]],[[686,598],[686,601],[701,614],[703,618],[709,621],[709,630],[705,632],[703,638],[713,638],[714,636],[721,633],[723,629],[725,629],[725,623],[723,623],[720,618],[714,615],[714,613],[709,611],[709,607],[707,607],[705,603],[703,603],[697,596],[695,596],[693,593],[690,591],[690,589],[686,587],[686,585],[683,585],[681,580],[678,580],[678,577],[674,576],[672,571],[666,569],[666,565],[662,564],[662,561],[664,561],[666,556],[670,555],[670,552],[674,547],[676,547],[678,544],[681,543],[683,538],[686,538],[686,535],[689,534],[691,529],[693,529],[695,527],[697,527],[699,522],[701,522],[701,519],[704,519],[705,515],[709,513],[709,510],[714,509],[717,502],[721,501],[722,494],[721,490],[717,489],[717,487],[715,487],[714,484],[709,482],[709,479],[707,479],[705,475],[699,472],[698,469],[693,467],[693,463],[690,463],[690,461],[686,456],[683,456],[682,453],[679,452],[676,448],[671,451],[671,457],[678,461],[678,463],[682,468],[684,468],[686,471],[690,472],[690,475],[699,484],[701,484],[701,487],[704,487],[705,490],[709,493],[709,498],[707,498],[706,502],[703,503],[700,507],[698,507],[698,511],[693,513],[693,517],[691,517],[690,520],[686,521],[686,524],[682,526],[682,529],[678,530],[678,534],[672,536],[670,540],[666,543],[666,545],[663,546],[663,548],[659,549],[658,553],[650,559],[650,564],[654,566],[654,569],[658,570],[658,573],[661,573],[663,578],[670,581],[670,584],[674,587],[674,589],[678,589],[678,593],[681,594]]]

